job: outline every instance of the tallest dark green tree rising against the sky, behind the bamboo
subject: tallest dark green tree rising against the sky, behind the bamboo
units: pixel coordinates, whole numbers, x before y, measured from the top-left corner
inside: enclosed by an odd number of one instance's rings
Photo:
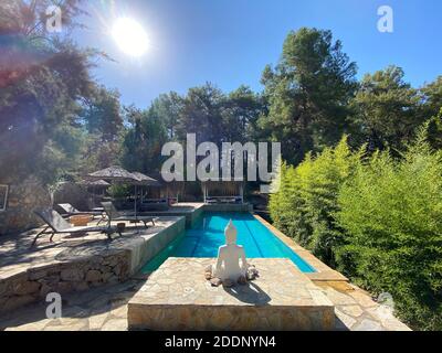
[[[269,115],[260,119],[261,128],[282,142],[287,161],[299,162],[346,131],[356,69],[330,31],[302,28],[288,34],[280,63],[264,69]]]

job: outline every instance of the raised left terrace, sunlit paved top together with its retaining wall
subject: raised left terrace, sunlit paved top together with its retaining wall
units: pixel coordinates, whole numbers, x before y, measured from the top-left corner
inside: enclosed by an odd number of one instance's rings
[[[185,231],[185,217],[157,220],[148,228],[129,223],[123,236],[48,237],[31,247],[34,232],[0,239],[0,315],[45,298],[125,281]]]

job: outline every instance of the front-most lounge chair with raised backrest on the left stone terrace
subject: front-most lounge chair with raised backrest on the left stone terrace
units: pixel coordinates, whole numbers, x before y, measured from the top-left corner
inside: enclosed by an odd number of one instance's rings
[[[122,235],[122,233],[118,231],[117,227],[110,227],[110,226],[82,226],[82,227],[74,227],[70,223],[64,220],[60,213],[52,208],[46,208],[42,211],[34,211],[34,213],[44,221],[44,223],[48,225],[43,231],[41,231],[36,236],[34,237],[34,240],[32,242],[32,246],[35,245],[36,239],[43,235],[43,234],[51,234],[50,242],[52,242],[52,238],[54,237],[55,234],[84,234],[84,233],[104,233],[107,235],[109,239],[110,235],[113,233],[118,233]]]

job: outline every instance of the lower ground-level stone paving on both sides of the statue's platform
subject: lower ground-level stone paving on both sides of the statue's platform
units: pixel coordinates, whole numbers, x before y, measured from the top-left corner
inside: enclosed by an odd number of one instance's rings
[[[126,331],[127,303],[145,285],[147,276],[63,297],[63,319],[45,319],[45,303],[34,303],[0,315],[0,330],[8,331]],[[346,282],[315,285],[335,306],[335,330],[409,331],[389,310],[368,293]]]

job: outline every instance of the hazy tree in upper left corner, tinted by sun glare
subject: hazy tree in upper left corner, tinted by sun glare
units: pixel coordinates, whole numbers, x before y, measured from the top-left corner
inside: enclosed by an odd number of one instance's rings
[[[80,1],[61,1],[69,31]],[[45,182],[70,169],[81,147],[78,111],[92,94],[90,53],[44,32],[51,1],[1,3],[0,176]],[[17,163],[20,161],[20,163]]]

